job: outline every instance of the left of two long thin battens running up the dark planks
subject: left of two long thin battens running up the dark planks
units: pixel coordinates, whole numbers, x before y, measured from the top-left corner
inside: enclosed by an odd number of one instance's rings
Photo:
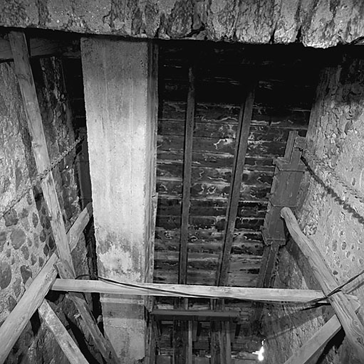
[[[182,213],[180,235],[180,284],[187,283],[187,235],[189,225],[189,198],[191,196],[192,176],[192,138],[194,129],[194,68],[189,68],[189,90],[187,96],[187,113],[184,133],[184,164],[182,186]]]

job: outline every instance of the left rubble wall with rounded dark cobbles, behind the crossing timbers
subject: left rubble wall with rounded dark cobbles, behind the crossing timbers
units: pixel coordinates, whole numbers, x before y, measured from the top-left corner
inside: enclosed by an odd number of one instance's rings
[[[68,96],[63,86],[61,61],[56,58],[33,60],[33,73],[51,161],[74,141]],[[78,187],[75,181],[75,154],[69,154],[53,171],[66,229],[76,220]],[[9,203],[21,188],[36,176],[31,139],[26,126],[23,102],[13,63],[0,64],[0,206]],[[46,203],[40,185],[0,216],[0,322],[24,293],[24,285],[43,267],[55,249]],[[85,243],[73,252],[76,272],[87,272]],[[63,296],[49,297],[65,309]],[[56,309],[56,306],[54,306]],[[63,310],[63,323],[67,324]],[[69,325],[68,325],[69,326]],[[67,363],[51,333],[35,314],[14,346],[7,363]]]

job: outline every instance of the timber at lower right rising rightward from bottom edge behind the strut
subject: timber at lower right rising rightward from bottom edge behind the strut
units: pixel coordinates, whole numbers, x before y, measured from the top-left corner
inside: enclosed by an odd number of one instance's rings
[[[357,312],[360,308],[360,302],[356,299],[350,299],[353,309]],[[341,330],[341,324],[338,317],[334,315],[328,322],[318,330],[310,340],[299,348],[284,364],[308,364],[316,363],[329,341],[336,336]]]

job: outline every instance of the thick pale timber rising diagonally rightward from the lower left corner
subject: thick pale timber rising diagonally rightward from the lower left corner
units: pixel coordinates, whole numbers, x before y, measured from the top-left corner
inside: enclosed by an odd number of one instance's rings
[[[83,232],[81,228],[87,225],[92,213],[92,206],[88,204],[82,213],[80,213],[71,229],[68,230],[67,237],[71,243],[71,250],[76,247],[76,243]],[[41,269],[41,272],[33,279],[33,282],[31,282],[23,296],[21,296],[18,304],[16,304],[13,311],[11,311],[4,323],[0,326],[0,363],[4,363],[11,348],[13,348],[26,327],[26,324],[31,319],[31,316],[33,316],[36,309],[41,305],[44,297],[55,281],[57,277],[55,264],[57,262],[59,262],[59,259],[56,252],[53,252]]]

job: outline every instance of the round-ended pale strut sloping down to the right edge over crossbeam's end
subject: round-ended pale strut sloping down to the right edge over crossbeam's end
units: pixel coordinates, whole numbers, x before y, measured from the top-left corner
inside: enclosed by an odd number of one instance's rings
[[[286,222],[291,237],[293,237],[293,240],[311,265],[312,272],[321,285],[323,293],[329,294],[333,289],[336,289],[338,282],[331,274],[331,270],[325,259],[323,259],[320,250],[303,234],[290,208],[282,208],[281,216]],[[333,306],[346,336],[348,336],[348,341],[355,348],[358,358],[364,360],[364,326],[355,314],[353,306],[350,305],[348,296],[338,291],[330,296],[328,300]]]

